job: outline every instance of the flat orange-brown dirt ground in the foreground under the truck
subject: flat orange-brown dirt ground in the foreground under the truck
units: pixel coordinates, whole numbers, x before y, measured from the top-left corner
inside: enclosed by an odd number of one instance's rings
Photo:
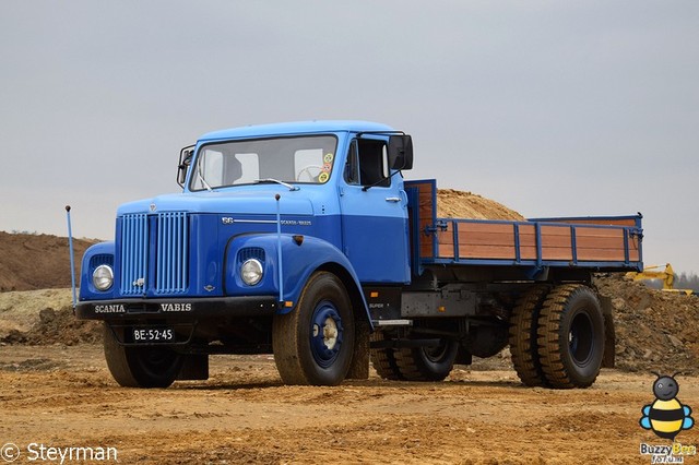
[[[119,463],[651,463],[639,427],[650,373],[603,370],[591,389],[523,388],[505,360],[439,383],[285,386],[271,356],[214,356],[209,381],[122,389],[99,345],[0,348],[0,442],[115,448]],[[678,377],[699,406],[699,378]],[[699,429],[683,431],[699,444]],[[35,445],[31,445],[35,444]],[[688,456],[686,463],[699,463]]]

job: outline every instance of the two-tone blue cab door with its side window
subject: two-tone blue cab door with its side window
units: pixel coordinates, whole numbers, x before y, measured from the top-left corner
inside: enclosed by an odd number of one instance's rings
[[[387,140],[354,139],[339,183],[343,252],[363,284],[410,282],[407,195]]]

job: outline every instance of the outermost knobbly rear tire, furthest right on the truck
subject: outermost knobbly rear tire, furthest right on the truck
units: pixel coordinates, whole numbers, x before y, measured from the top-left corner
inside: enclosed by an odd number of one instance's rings
[[[604,356],[604,315],[596,294],[583,285],[556,287],[538,317],[538,355],[552,388],[588,388]]]

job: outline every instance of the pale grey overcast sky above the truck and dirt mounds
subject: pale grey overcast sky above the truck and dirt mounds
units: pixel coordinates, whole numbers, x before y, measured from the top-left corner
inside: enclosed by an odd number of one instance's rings
[[[699,273],[699,1],[0,2],[0,230],[111,239],[201,133],[306,119],[528,217],[640,211]]]

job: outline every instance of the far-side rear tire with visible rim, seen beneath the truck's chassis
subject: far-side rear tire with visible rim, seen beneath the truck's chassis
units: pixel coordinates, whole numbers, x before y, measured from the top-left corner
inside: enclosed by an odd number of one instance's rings
[[[395,363],[405,381],[442,381],[454,366],[459,343],[441,339],[437,347],[402,348],[394,351]]]

